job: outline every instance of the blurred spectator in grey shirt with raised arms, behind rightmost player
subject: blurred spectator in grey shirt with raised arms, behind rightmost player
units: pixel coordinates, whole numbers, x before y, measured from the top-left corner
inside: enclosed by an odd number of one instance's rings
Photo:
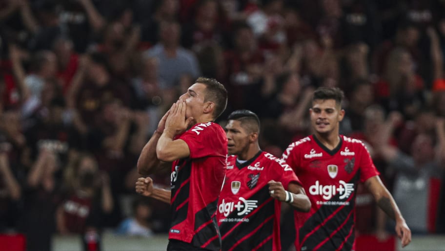
[[[440,161],[435,158],[431,136],[417,135],[411,146],[411,155],[387,143],[379,146],[378,150],[388,161],[389,167],[397,172],[392,194],[405,216],[406,224],[413,233],[428,233],[431,181],[440,179],[441,175]]]

